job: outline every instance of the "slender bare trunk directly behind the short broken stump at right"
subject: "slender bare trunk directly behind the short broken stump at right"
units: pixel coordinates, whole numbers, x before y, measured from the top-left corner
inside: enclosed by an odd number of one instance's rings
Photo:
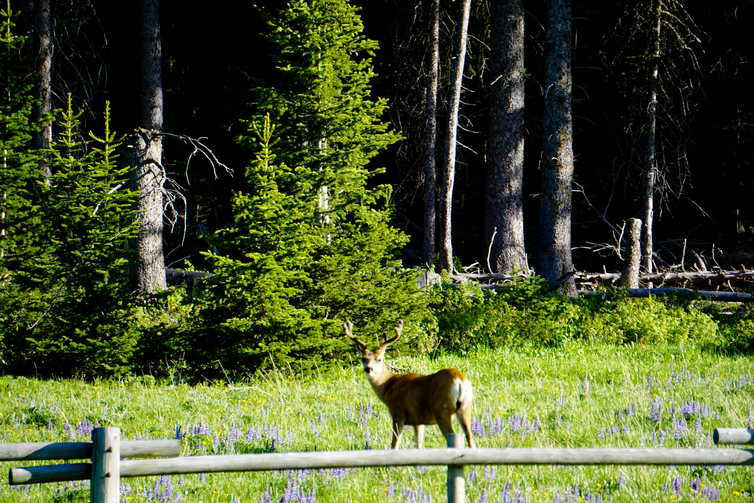
[[[660,77],[660,35],[662,0],[654,0],[654,48],[651,59],[651,73],[649,75],[649,106],[647,107],[647,162],[645,164],[644,186],[644,228],[642,232],[642,255],[644,267],[651,274],[652,267],[652,220],[654,219],[654,181],[657,177],[655,167],[655,145],[657,130],[657,80]],[[649,284],[651,288],[651,283]]]

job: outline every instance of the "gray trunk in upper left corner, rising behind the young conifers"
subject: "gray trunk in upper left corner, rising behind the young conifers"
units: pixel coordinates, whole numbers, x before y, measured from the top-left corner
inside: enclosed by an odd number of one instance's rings
[[[50,0],[35,0],[34,2],[34,51],[36,52],[37,80],[34,86],[34,97],[41,100],[35,106],[32,118],[39,119],[52,112],[52,94],[50,83],[52,77],[52,13]],[[32,148],[48,149],[52,141],[52,123],[44,124],[41,130],[34,133]],[[39,161],[42,176],[52,176],[50,155],[44,152]]]

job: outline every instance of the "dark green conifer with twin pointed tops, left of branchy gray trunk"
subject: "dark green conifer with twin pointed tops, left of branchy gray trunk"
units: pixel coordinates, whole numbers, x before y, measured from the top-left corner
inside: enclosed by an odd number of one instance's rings
[[[102,137],[81,139],[80,115],[69,95],[50,152],[53,175],[49,185],[38,182],[44,228],[37,238],[46,250],[18,271],[28,308],[5,339],[9,363],[21,372],[32,361],[45,374],[121,374],[138,340],[126,247],[136,234],[135,193],[123,188],[129,168],[115,165],[122,139],[109,130],[109,102]]]

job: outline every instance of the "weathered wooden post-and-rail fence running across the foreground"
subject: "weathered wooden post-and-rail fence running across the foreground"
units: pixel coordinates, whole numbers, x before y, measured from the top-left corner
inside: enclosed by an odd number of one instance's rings
[[[718,444],[754,444],[754,430],[718,428]],[[118,428],[95,428],[91,443],[0,444],[0,461],[86,459],[90,463],[11,468],[11,485],[91,480],[91,503],[117,503],[121,477],[268,471],[447,465],[448,501],[465,498],[464,465],[754,465],[747,449],[464,449],[464,436],[448,435],[447,449],[353,450],[268,454],[203,455],[168,459],[124,459],[180,454],[180,440],[120,441]]]

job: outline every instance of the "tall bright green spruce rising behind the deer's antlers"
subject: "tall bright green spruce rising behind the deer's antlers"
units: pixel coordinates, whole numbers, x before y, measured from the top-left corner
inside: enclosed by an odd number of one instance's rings
[[[377,336],[403,318],[404,344],[427,339],[426,296],[394,259],[408,238],[390,225],[391,187],[366,187],[382,172],[369,159],[400,136],[379,120],[386,100],[369,100],[366,56],[377,45],[356,13],[344,0],[314,0],[269,18],[281,82],[257,89],[259,115],[240,139],[261,150],[250,192],[234,197],[234,225],[216,234],[234,252],[210,254],[218,275],[203,288],[202,327],[181,348],[195,359],[225,370],[269,358],[321,367],[350,350],[347,319]]]

